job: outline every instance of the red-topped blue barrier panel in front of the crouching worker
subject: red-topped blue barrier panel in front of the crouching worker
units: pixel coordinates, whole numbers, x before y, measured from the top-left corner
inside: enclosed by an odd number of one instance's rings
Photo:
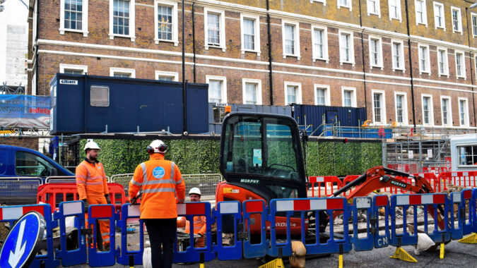
[[[204,255],[204,261],[208,262],[216,258],[216,252],[212,250],[211,224],[215,219],[211,217],[211,203],[209,202],[187,202],[177,204],[177,215],[184,216],[191,224],[189,233],[194,233],[194,216],[206,217],[206,237],[205,248],[194,247],[194,236],[189,236],[189,247],[184,251],[177,250],[177,239],[174,245],[173,262],[199,262],[201,254]]]

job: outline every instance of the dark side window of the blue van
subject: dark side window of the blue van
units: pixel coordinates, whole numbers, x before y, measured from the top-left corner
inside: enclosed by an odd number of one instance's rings
[[[35,154],[21,151],[15,154],[15,172],[18,176],[47,177],[53,169],[52,164]]]

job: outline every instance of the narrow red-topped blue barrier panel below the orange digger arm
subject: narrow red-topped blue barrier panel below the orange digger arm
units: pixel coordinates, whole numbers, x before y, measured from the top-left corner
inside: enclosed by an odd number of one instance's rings
[[[389,200],[387,195],[375,195],[373,197],[374,213],[375,213],[375,248],[385,248],[389,245],[391,240],[391,233],[389,232]],[[384,235],[379,234],[379,209],[384,209]]]

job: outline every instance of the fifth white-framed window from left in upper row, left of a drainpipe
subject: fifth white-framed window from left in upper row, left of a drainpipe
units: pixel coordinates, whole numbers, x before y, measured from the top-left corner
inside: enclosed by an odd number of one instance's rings
[[[256,52],[260,56],[260,18],[259,16],[245,16],[240,14],[240,28],[242,32],[242,54],[245,51]]]

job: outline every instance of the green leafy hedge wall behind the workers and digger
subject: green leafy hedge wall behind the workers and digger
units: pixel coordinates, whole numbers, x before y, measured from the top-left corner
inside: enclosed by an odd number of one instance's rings
[[[98,140],[99,160],[107,176],[133,173],[141,162],[148,160],[146,147],[151,140]],[[220,173],[218,169],[219,140],[164,140],[169,146],[166,159],[179,166],[184,174]],[[86,140],[80,141],[83,148]],[[275,152],[276,150],[271,150]],[[382,164],[380,142],[310,141],[307,143],[307,171],[309,176],[346,176],[361,174],[372,166]],[[81,152],[81,158],[85,157]],[[283,156],[286,157],[286,156]]]

